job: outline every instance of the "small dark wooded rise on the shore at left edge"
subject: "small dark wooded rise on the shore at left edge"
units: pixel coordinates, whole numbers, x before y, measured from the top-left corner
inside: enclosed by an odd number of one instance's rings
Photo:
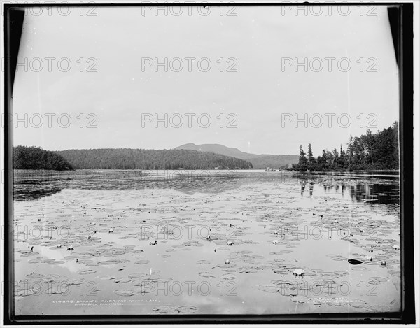
[[[13,169],[64,171],[73,168],[66,159],[55,152],[18,145],[13,147]]]

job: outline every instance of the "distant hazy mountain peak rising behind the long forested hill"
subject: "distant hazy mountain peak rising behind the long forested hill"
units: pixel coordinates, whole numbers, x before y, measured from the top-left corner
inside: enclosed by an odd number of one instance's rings
[[[244,159],[248,162],[251,162],[253,169],[265,169],[267,167],[272,167],[278,169],[281,166],[288,166],[289,164],[295,164],[299,161],[298,155],[257,155],[251,154],[249,152],[241,152],[237,148],[229,148],[225,145],[219,144],[203,144],[195,145],[195,143],[186,143],[185,145],[180,145],[179,147],[174,148],[176,150],[197,150],[200,152],[214,152],[216,154],[221,154],[225,156],[237,157],[239,159]]]

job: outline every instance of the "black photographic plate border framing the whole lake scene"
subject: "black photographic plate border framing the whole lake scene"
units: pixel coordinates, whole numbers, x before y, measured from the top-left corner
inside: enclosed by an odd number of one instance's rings
[[[387,6],[400,78],[400,231],[401,306],[398,313],[319,313],[298,315],[20,315],[13,314],[13,124],[4,120],[4,325],[69,324],[301,324],[358,323],[409,324],[415,322],[414,306],[414,155],[413,155],[413,3],[3,3],[5,73],[5,117],[12,113],[11,94],[18,60],[25,8],[29,7],[123,7],[123,6]],[[268,9],[268,8],[267,8]],[[418,109],[417,109],[418,110]]]

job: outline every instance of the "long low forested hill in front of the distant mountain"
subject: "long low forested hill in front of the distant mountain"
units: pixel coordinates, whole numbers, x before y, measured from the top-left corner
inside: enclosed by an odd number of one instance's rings
[[[252,169],[242,159],[195,150],[83,149],[56,152],[74,169]]]

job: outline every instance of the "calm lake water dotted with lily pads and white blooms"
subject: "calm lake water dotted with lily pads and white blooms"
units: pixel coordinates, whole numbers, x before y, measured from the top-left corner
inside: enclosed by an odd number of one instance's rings
[[[13,178],[16,315],[400,311],[398,172]]]

